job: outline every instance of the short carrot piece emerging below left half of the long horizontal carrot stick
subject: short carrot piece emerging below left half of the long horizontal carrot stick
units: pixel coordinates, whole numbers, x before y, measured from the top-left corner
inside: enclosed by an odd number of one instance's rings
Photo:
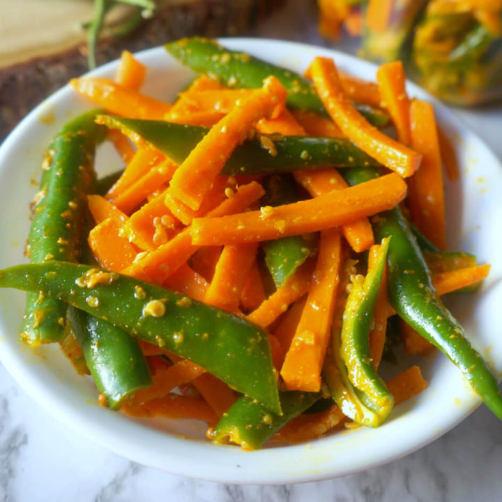
[[[216,264],[205,303],[235,312],[238,309],[246,276],[256,258],[258,244],[227,245]]]

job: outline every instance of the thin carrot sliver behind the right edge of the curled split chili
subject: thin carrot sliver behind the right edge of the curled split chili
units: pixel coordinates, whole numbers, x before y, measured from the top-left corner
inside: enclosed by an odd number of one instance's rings
[[[368,272],[375,266],[374,261],[377,258],[379,248],[380,245],[374,245],[370,249],[370,254],[368,256]],[[381,356],[383,354],[383,347],[386,340],[387,319],[389,317],[386,267],[387,266],[383,269],[380,291],[373,310],[374,324],[372,330],[370,331],[370,357],[372,365],[375,369],[379,367]]]

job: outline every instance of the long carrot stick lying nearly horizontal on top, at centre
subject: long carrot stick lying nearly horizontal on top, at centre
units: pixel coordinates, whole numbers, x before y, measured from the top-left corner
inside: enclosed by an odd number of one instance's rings
[[[406,195],[406,183],[387,174],[360,185],[333,190],[315,199],[192,221],[192,243],[225,245],[268,241],[345,225],[393,208]]]

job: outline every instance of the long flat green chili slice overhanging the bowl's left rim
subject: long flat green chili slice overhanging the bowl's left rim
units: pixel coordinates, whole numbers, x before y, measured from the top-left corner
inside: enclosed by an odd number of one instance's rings
[[[224,310],[126,275],[61,261],[0,271],[0,287],[43,291],[192,360],[281,413],[266,330]]]

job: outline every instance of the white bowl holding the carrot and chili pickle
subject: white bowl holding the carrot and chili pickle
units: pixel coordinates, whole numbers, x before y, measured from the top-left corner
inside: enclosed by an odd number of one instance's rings
[[[374,79],[376,67],[352,56],[321,47],[277,40],[229,38],[231,49],[245,50],[298,72],[314,56],[330,56],[340,68],[358,77]],[[162,47],[137,54],[149,67],[144,92],[167,101],[192,77]],[[113,77],[118,63],[109,63],[91,75]],[[502,298],[502,169],[487,146],[451,112],[427,93],[409,84],[411,96],[431,100],[441,126],[456,139],[462,177],[447,183],[448,243],[451,249],[473,252],[492,271],[476,294],[450,301],[473,344],[497,374],[502,370],[502,342],[498,309]],[[29,229],[29,202],[36,192],[40,162],[50,138],[63,123],[91,108],[68,86],[29,114],[0,148],[0,268],[25,261],[23,246]],[[112,149],[102,149],[106,172],[121,162]],[[101,174],[105,174],[101,171]],[[308,445],[279,446],[244,452],[236,446],[214,446],[205,441],[204,427],[190,420],[137,421],[96,404],[89,378],[79,377],[56,347],[32,350],[19,341],[24,294],[0,291],[0,358],[13,377],[62,423],[129,459],[195,478],[222,482],[286,483],[321,480],[362,471],[390,462],[444,434],[480,404],[459,371],[442,355],[419,364],[429,388],[396,406],[378,429],[339,432]],[[403,358],[399,369],[417,361]],[[183,436],[189,436],[192,440]]]

